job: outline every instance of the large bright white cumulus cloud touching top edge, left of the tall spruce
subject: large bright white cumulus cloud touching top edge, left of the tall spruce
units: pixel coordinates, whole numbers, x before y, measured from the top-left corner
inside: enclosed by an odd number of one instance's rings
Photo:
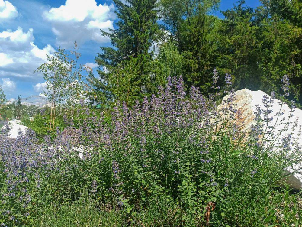
[[[59,8],[44,11],[43,17],[52,23],[52,31],[56,35],[56,45],[72,47],[93,40],[98,43],[109,42],[102,36],[100,29],[113,29],[114,5],[97,5],[95,0],[67,0]]]

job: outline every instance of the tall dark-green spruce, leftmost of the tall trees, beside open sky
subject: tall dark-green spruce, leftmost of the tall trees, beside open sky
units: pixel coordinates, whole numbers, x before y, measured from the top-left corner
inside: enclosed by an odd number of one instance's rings
[[[112,47],[101,47],[95,59],[99,66],[98,83],[111,92],[112,100],[133,104],[134,99],[156,89],[151,47],[160,34],[157,3],[156,0],[113,2],[117,29],[101,30],[103,36],[110,38]]]

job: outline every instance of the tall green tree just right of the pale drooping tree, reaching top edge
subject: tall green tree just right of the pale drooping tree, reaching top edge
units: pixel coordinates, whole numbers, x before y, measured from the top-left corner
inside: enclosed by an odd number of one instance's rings
[[[211,91],[215,65],[215,24],[217,17],[209,15],[220,0],[161,0],[165,29],[182,55],[182,76],[185,84],[199,87],[203,94]]]

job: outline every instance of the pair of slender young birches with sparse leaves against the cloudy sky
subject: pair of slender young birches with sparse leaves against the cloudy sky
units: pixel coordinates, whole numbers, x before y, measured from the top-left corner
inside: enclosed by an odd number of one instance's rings
[[[58,49],[53,56],[47,56],[47,63],[43,63],[37,71],[43,74],[47,87],[44,94],[50,100],[50,130],[55,129],[57,109],[64,108],[73,120],[76,106],[85,97],[83,72],[91,70],[88,66],[79,64],[79,48],[75,42],[71,51],[73,58],[64,49]]]

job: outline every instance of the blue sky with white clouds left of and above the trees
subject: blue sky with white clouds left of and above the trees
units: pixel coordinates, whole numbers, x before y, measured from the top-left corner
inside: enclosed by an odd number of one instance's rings
[[[237,0],[221,0],[220,10]],[[258,0],[246,5],[259,6]],[[214,15],[222,17],[219,11]],[[34,70],[58,47],[79,44],[80,63],[95,67],[100,46],[110,45],[99,29],[116,22],[110,0],[0,0],[0,85],[8,99],[43,93],[43,76]],[[95,68],[94,68],[95,70]]]

